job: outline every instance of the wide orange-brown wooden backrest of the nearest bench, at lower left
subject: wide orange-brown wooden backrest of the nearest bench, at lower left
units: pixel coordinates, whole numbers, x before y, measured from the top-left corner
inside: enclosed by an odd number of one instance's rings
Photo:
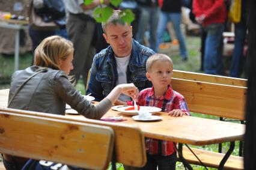
[[[106,169],[113,146],[111,127],[0,111],[0,153]]]

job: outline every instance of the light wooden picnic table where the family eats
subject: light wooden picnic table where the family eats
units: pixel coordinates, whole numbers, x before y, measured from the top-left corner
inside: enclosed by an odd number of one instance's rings
[[[7,106],[8,90],[0,90],[0,108]],[[97,104],[97,102],[95,102]],[[163,118],[162,121],[141,122],[134,121],[132,117],[123,115],[121,112],[109,110],[104,115],[106,117],[122,115],[126,121],[118,123],[132,124],[138,126],[145,137],[174,141],[179,143],[179,150],[182,156],[182,144],[209,145],[221,142],[231,142],[230,150],[227,151],[224,164],[234,150],[234,141],[243,141],[245,125],[230,123],[225,121],[210,120],[200,117],[171,117],[165,112],[157,112],[156,115]],[[78,120],[86,119],[82,115],[70,115],[67,117]],[[182,157],[181,157],[182,159]]]

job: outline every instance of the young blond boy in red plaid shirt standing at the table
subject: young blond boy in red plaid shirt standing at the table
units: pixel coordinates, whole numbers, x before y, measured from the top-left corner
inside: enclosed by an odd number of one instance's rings
[[[168,115],[179,117],[190,115],[184,97],[172,90],[172,60],[164,54],[154,54],[146,63],[147,79],[153,83],[139,93],[139,106],[155,106],[162,108]],[[129,102],[127,102],[129,104]],[[174,142],[145,138],[147,163],[142,169],[175,169],[176,150]]]

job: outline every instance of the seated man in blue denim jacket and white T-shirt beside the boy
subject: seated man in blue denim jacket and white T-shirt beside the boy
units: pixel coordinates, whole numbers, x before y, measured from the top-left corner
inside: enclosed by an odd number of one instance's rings
[[[103,37],[110,46],[94,56],[87,94],[102,100],[120,83],[134,83],[142,90],[151,87],[147,80],[146,62],[155,52],[132,38],[132,26],[123,23],[114,11],[108,22],[102,24]],[[130,97],[120,96],[115,105],[125,105]]]

